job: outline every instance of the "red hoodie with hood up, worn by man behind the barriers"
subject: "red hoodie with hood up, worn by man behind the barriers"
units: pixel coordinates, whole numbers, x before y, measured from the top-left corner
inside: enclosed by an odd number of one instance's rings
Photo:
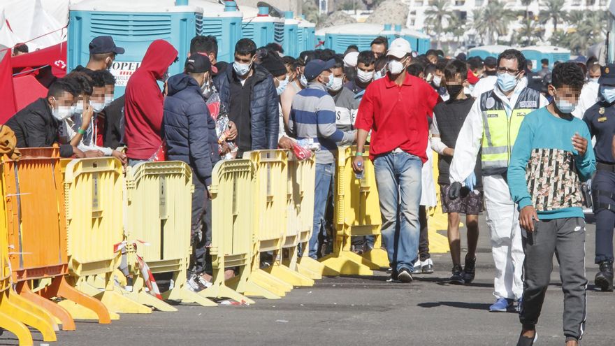
[[[150,44],[139,68],[126,85],[124,140],[126,156],[147,160],[162,143],[162,110],[164,99],[157,80],[163,78],[168,66],[178,57],[171,43],[156,40]]]

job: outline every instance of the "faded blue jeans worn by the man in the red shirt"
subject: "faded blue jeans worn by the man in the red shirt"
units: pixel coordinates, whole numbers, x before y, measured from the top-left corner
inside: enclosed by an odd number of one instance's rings
[[[374,159],[382,214],[382,238],[394,271],[414,269],[419,251],[419,203],[423,162],[407,152],[389,152]]]

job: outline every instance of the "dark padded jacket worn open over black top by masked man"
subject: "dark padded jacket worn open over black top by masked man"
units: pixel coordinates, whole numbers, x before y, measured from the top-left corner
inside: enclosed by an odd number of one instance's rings
[[[217,75],[214,85],[220,94],[220,102],[231,109],[231,81],[235,77],[232,64],[226,73]],[[250,95],[250,135],[252,150],[277,149],[277,134],[280,131],[278,117],[279,99],[270,73],[261,66],[254,68],[254,85]]]

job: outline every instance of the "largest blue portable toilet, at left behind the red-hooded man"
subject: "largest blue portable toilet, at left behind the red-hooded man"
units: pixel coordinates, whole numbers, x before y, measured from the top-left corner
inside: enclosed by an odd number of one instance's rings
[[[116,45],[126,49],[117,55],[110,70],[116,79],[116,98],[124,94],[126,83],[154,40],[166,40],[178,50],[180,61],[168,72],[181,73],[190,39],[196,35],[197,18],[203,13],[187,0],[178,0],[177,6],[172,0],[85,0],[69,10],[68,71],[87,64],[89,43],[97,36],[110,35]]]

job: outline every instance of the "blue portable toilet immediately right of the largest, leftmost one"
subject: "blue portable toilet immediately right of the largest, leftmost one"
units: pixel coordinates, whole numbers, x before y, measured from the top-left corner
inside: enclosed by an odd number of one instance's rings
[[[224,1],[224,6],[207,0],[190,0],[191,4],[203,8],[203,22],[197,22],[196,33],[203,36],[215,36],[218,41],[219,62],[232,62],[235,55],[235,43],[242,37],[241,22],[243,13],[232,0]]]

